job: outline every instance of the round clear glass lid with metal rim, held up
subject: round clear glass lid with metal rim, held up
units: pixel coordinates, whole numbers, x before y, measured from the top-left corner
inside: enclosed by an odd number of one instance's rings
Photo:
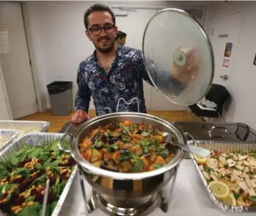
[[[206,95],[213,80],[213,50],[206,32],[180,9],[164,9],[144,31],[146,71],[171,102],[191,105]]]

